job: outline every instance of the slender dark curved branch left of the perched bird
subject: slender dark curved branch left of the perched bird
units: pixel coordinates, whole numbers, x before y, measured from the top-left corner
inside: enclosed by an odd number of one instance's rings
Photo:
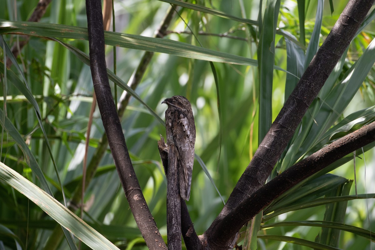
[[[127,201],[148,248],[166,249],[136,178],[113,101],[105,63],[101,5],[100,0],[86,0],[90,68],[103,126]]]

